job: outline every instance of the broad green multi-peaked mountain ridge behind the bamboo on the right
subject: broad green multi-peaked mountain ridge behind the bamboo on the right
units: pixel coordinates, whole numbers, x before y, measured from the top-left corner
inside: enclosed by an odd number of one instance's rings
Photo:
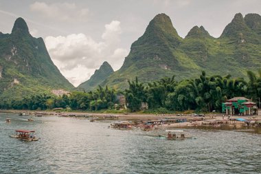
[[[246,77],[247,70],[261,67],[261,17],[238,13],[219,38],[210,36],[203,26],[194,26],[182,39],[166,14],[157,14],[144,34],[131,45],[122,67],[102,85],[124,89],[127,79],[142,82],[164,76],[177,80],[207,74]]]

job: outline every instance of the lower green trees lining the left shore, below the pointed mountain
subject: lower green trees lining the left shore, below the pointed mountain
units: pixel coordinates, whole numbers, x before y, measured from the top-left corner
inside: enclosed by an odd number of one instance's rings
[[[25,97],[23,100],[12,100],[0,105],[1,109],[30,109],[45,110],[64,108],[72,110],[98,111],[100,109],[114,109],[117,103],[117,93],[108,87],[99,87],[95,91],[73,91],[69,96],[49,96],[38,94]]]

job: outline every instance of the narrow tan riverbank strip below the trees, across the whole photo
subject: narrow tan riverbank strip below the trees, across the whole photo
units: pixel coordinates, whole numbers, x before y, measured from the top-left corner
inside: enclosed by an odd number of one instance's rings
[[[62,116],[73,118],[91,118],[95,120],[111,121],[134,121],[134,122],[155,122],[162,121],[163,124],[157,125],[157,128],[189,128],[189,127],[231,127],[241,129],[245,127],[246,122],[237,121],[237,118],[244,118],[249,122],[261,121],[261,116],[231,116],[228,118],[222,113],[208,113],[204,117],[191,116],[190,114],[146,114],[146,113],[89,113],[84,111],[28,111],[28,110],[0,110],[0,113],[28,113],[30,116]],[[172,120],[172,121],[170,121]],[[182,121],[181,121],[182,120]],[[177,122],[176,122],[177,121]],[[152,123],[153,124],[153,123]]]

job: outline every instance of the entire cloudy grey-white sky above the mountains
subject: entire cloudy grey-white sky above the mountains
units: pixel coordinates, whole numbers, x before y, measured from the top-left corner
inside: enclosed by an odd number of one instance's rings
[[[166,13],[185,37],[194,25],[220,36],[234,14],[261,14],[260,0],[0,0],[0,32],[10,33],[23,17],[42,37],[54,64],[73,85],[88,80],[108,61],[119,69],[131,43],[155,15]]]

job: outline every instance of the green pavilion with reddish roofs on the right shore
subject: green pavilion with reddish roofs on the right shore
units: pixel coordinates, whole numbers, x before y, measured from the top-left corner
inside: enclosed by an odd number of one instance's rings
[[[234,97],[222,103],[222,111],[226,115],[250,116],[256,113],[256,102],[245,97]]]

